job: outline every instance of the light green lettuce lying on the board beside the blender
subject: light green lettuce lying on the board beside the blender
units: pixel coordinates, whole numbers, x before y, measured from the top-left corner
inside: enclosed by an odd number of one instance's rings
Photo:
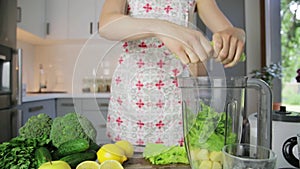
[[[143,152],[143,157],[152,164],[189,164],[185,148],[180,146],[148,143]]]

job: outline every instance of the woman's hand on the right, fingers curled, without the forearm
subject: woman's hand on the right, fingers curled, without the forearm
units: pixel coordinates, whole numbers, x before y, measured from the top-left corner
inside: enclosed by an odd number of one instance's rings
[[[237,64],[244,51],[245,32],[236,27],[229,27],[213,34],[213,47],[216,60],[224,64],[224,67],[232,67]]]

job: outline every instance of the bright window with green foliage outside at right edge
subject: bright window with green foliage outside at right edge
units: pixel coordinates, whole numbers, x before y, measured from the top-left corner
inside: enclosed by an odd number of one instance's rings
[[[300,1],[281,0],[281,62],[283,66],[282,103],[291,111],[300,111]],[[299,74],[299,75],[298,75]]]

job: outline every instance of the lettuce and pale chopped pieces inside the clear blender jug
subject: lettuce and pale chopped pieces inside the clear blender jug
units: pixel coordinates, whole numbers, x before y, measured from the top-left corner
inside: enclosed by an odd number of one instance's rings
[[[226,144],[236,142],[236,134],[232,133],[232,119],[226,113],[216,112],[213,108],[200,103],[201,111],[186,123],[186,146],[189,160],[194,169],[222,169],[222,148]],[[187,116],[191,115],[186,110]],[[189,117],[188,117],[189,118]]]

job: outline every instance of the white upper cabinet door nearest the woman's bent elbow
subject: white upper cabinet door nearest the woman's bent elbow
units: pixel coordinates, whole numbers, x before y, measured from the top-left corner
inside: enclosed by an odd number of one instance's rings
[[[88,39],[95,31],[95,0],[69,1],[69,39]]]

